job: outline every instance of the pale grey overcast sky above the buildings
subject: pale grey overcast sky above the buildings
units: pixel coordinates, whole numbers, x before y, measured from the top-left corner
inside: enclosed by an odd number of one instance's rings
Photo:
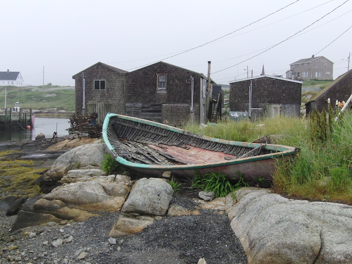
[[[351,18],[352,0],[2,1],[0,71],[74,86],[72,75],[97,62],[132,71],[164,61],[206,75],[211,61],[211,78],[228,84],[263,65],[285,77],[314,54],[334,63],[336,79],[352,52]]]

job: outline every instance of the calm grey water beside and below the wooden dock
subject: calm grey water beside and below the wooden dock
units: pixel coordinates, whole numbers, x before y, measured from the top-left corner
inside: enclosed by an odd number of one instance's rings
[[[39,133],[43,133],[46,139],[51,139],[54,132],[57,132],[58,136],[64,136],[68,134],[66,129],[70,127],[68,121],[68,118],[36,117],[32,131],[0,131],[0,141],[35,140]]]

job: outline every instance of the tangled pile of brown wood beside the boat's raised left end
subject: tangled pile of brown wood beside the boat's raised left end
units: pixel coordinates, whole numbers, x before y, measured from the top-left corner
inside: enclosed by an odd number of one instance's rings
[[[93,113],[90,116],[80,116],[73,113],[70,118],[70,133],[81,132],[88,133],[89,137],[101,137],[102,126],[95,125],[97,114]]]

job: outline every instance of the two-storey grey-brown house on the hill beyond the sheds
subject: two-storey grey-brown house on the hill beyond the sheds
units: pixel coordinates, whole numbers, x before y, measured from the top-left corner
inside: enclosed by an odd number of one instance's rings
[[[308,59],[301,59],[290,64],[290,69],[286,71],[286,78],[292,80],[332,80],[333,62],[324,56]]]

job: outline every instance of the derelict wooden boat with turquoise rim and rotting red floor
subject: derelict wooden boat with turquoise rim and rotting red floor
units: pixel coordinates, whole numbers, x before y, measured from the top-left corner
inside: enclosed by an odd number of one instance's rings
[[[109,113],[103,138],[122,165],[146,176],[193,177],[218,172],[247,181],[271,178],[277,160],[294,157],[299,149],[283,145],[212,138],[131,116]]]

